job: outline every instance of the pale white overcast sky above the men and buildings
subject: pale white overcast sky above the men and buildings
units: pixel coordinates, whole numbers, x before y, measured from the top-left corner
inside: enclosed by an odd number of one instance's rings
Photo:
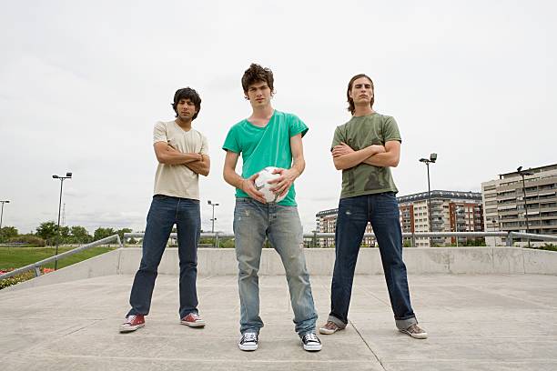
[[[275,75],[275,108],[305,121],[306,171],[296,181],[306,232],[338,205],[329,145],[349,120],[346,87],[366,73],[374,108],[402,135],[399,196],[480,191],[518,165],[557,162],[557,52],[552,1],[26,1],[0,13],[0,199],[20,233],[66,225],[145,228],[157,166],[153,125],[172,96],[202,98],[208,136],[203,229],[230,232],[234,189],[222,179],[228,128],[250,114],[240,78],[252,62]],[[238,169],[239,172],[239,169]]]

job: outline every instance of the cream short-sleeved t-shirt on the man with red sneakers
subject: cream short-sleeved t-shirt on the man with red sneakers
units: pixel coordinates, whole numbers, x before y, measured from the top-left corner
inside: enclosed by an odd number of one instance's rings
[[[153,143],[166,142],[182,153],[208,155],[205,135],[191,128],[185,131],[174,121],[158,121],[153,130]],[[154,195],[199,199],[199,175],[186,165],[158,164]]]

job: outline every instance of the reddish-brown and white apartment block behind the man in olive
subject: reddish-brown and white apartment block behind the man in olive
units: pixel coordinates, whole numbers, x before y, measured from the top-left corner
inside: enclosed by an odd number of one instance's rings
[[[402,232],[429,232],[428,193],[397,197]],[[319,211],[316,215],[318,232],[335,232],[338,209]],[[431,230],[433,232],[483,231],[481,194],[459,191],[431,191]],[[370,224],[366,232],[373,232]],[[410,239],[407,239],[410,240]],[[460,244],[466,243],[461,237]],[[408,243],[408,242],[407,242]],[[434,245],[456,244],[456,237],[432,238]],[[319,246],[334,246],[334,238],[320,238]],[[375,246],[375,239],[364,238],[363,246]],[[416,238],[416,246],[430,246],[429,238]]]

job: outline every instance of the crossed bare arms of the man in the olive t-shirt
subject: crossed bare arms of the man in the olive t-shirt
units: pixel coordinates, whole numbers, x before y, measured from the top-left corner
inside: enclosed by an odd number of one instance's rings
[[[390,140],[385,145],[369,145],[358,151],[354,151],[346,143],[340,142],[339,145],[333,147],[332,156],[337,170],[349,169],[362,163],[380,167],[396,167],[400,160],[400,142]]]

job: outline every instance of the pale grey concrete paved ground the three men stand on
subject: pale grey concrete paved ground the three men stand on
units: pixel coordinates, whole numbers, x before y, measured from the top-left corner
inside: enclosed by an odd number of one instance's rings
[[[159,276],[147,326],[120,335],[132,276],[0,291],[0,368],[7,370],[557,370],[557,276],[410,276],[430,333],[395,330],[382,276],[357,276],[347,330],[302,350],[285,279],[263,276],[259,349],[238,350],[234,276],[198,280],[205,329],[179,325],[177,277]],[[319,324],[330,278],[312,277]]]

